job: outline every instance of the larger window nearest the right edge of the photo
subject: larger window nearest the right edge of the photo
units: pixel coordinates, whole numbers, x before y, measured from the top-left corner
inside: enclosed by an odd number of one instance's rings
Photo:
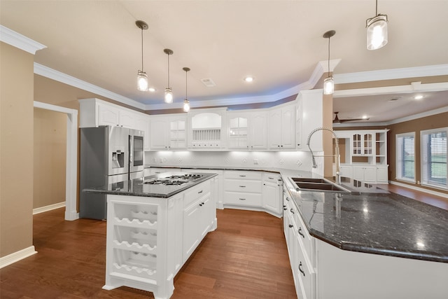
[[[421,132],[421,183],[447,188],[448,127]]]

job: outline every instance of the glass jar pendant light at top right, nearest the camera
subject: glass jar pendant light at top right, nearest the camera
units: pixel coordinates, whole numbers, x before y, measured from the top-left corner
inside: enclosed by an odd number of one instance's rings
[[[365,20],[367,27],[367,49],[377,50],[387,43],[387,15],[378,13],[378,0],[375,1],[375,13],[373,18]]]

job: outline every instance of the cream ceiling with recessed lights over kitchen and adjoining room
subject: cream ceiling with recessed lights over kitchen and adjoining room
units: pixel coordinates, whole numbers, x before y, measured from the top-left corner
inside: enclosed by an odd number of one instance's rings
[[[388,15],[389,42],[370,51],[365,46],[365,20],[375,15],[374,0],[0,0],[1,25],[47,46],[38,50],[35,62],[148,109],[181,106],[186,96],[183,67],[191,69],[188,99],[193,107],[231,99],[274,101],[285,91],[312,88],[308,85],[313,72],[319,65],[326,71],[328,39],[322,35],[330,29],[336,31],[330,56],[340,59],[334,70],[336,83],[338,74],[448,65],[447,0],[379,0],[378,13]],[[153,93],[136,87],[141,69],[136,20],[149,25],[144,31],[144,71],[157,89]],[[174,51],[172,106],[162,104],[167,87],[164,48]],[[243,81],[248,75],[255,77],[253,83]],[[206,87],[202,78],[211,78],[216,86]],[[448,106],[447,92],[426,95],[421,102],[408,99],[409,92],[399,96],[393,103],[387,95],[337,97],[333,110],[340,111],[339,118],[366,114],[370,121],[388,121]]]

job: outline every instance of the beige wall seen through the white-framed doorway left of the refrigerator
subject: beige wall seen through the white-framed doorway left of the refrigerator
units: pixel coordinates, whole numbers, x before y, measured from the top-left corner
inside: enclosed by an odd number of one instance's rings
[[[65,202],[66,113],[34,108],[33,209]]]

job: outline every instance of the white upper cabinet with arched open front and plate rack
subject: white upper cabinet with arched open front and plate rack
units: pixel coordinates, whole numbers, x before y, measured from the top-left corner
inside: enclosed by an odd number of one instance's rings
[[[197,109],[188,113],[189,148],[225,148],[225,109]]]

